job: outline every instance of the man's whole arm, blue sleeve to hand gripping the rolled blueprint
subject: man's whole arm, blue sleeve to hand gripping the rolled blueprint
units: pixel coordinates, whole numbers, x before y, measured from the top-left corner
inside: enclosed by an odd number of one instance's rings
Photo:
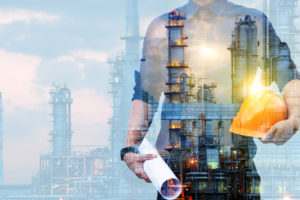
[[[166,15],[167,16],[167,15]],[[126,146],[134,146],[141,142],[143,135],[142,128],[145,126],[147,119],[148,99],[147,96],[157,89],[160,85],[160,56],[159,44],[162,40],[160,30],[164,30],[165,22],[161,17],[155,19],[148,27],[143,44],[143,61],[140,67],[140,73],[135,73],[135,87],[131,113],[128,124]],[[155,89],[153,89],[155,88]],[[153,94],[152,94],[153,95]],[[126,153],[124,161],[128,167],[139,178],[150,182],[143,170],[143,164],[146,160],[156,158],[156,155],[141,155],[136,153]]]

